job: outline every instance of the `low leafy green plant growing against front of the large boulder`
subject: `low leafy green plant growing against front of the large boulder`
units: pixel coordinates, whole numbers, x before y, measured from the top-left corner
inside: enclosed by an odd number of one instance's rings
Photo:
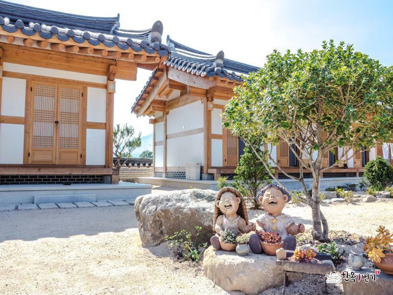
[[[207,243],[198,241],[198,237],[202,233],[202,227],[196,226],[195,228],[197,230],[195,236],[185,230],[175,232],[173,236],[165,236],[165,240],[172,249],[175,258],[199,262],[201,254],[207,247]]]

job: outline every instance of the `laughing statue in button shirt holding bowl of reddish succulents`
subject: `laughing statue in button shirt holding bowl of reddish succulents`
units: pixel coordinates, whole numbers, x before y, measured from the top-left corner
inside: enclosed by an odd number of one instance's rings
[[[283,248],[285,250],[295,250],[296,238],[295,235],[304,233],[304,225],[296,224],[293,220],[281,213],[285,207],[285,203],[291,199],[291,195],[276,184],[269,184],[265,186],[256,196],[258,203],[262,203],[265,210],[256,220],[255,234],[250,236],[249,246],[253,253],[262,253],[262,245],[259,239],[260,232],[276,232],[284,241]]]

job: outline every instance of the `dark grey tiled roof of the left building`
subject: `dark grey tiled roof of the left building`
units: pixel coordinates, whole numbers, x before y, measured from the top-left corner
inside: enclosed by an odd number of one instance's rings
[[[151,29],[120,28],[120,16],[92,17],[35,8],[0,0],[0,26],[7,32],[20,30],[26,37],[38,34],[44,39],[56,37],[60,41],[74,40],[93,46],[104,44],[121,50],[131,48],[148,54],[168,55],[167,45],[161,43],[163,25],[160,21]]]

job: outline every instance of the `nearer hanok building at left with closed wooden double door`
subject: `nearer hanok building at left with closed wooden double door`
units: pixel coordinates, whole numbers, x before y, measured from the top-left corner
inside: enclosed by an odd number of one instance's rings
[[[114,81],[168,57],[119,21],[0,1],[1,184],[111,183]]]

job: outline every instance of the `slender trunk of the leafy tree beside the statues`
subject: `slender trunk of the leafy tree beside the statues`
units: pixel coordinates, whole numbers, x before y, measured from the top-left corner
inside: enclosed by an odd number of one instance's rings
[[[328,227],[325,216],[323,216],[320,208],[321,199],[320,193],[320,176],[314,177],[312,181],[312,196],[311,196],[311,212],[312,212],[312,232],[311,235],[314,240],[326,241],[328,239]],[[321,215],[323,218],[321,218]]]

